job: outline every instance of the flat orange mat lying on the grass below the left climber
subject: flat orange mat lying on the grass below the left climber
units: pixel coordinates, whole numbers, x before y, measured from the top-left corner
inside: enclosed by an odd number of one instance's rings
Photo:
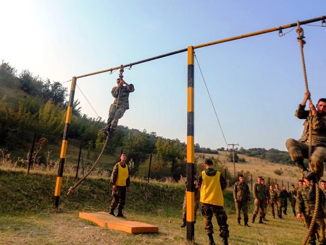
[[[106,212],[79,213],[80,218],[91,220],[97,225],[128,233],[157,233],[158,227],[146,223],[117,218]]]

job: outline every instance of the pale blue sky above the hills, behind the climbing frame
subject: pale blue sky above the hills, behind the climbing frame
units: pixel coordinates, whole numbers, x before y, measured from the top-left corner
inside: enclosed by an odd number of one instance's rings
[[[326,1],[5,1],[0,59],[51,81],[127,64],[223,38],[326,15]],[[320,24],[316,22],[313,24]],[[303,26],[314,103],[326,97],[326,28]],[[284,30],[284,33],[290,29]],[[295,30],[196,50],[228,143],[285,150],[300,138],[294,117],[305,92]],[[95,111],[107,118],[118,71],[78,79]],[[119,124],[186,141],[187,54],[125,69],[135,86]],[[65,83],[70,89],[70,83]],[[76,88],[82,112],[97,117]],[[226,147],[195,64],[195,142]]]

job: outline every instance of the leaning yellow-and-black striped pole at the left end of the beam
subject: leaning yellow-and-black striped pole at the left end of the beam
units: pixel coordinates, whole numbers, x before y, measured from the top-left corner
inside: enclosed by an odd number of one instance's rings
[[[60,198],[60,193],[61,193],[63,167],[65,165],[65,158],[66,158],[66,152],[67,152],[67,146],[68,146],[68,134],[69,134],[69,127],[70,127],[70,122],[71,122],[73,97],[75,95],[75,89],[76,89],[76,81],[77,81],[76,77],[73,77],[71,80],[69,103],[68,103],[67,115],[66,115],[66,124],[65,124],[65,130],[63,132],[59,169],[58,169],[58,176],[57,176],[57,183],[56,183],[56,190],[55,190],[55,206],[56,206],[56,208],[59,207],[59,198]]]

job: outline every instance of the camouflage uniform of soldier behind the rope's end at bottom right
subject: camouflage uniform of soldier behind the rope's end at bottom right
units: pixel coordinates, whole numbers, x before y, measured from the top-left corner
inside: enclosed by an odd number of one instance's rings
[[[314,187],[315,190],[315,187]],[[295,212],[302,213],[305,217],[306,228],[309,229],[312,216],[315,209],[315,199],[308,201],[307,195],[309,192],[309,187],[303,188],[297,193],[297,199],[295,204]],[[313,232],[310,236],[308,244],[316,244],[316,235],[320,245],[326,245],[325,238],[325,222],[324,222],[324,213],[325,213],[325,196],[323,195],[322,190],[319,188],[319,207],[316,217],[316,223],[313,229]]]

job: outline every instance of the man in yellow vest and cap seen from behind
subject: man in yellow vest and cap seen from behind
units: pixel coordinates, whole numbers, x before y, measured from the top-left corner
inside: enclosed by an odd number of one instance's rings
[[[223,209],[224,199],[222,190],[226,188],[226,181],[219,171],[213,169],[213,162],[205,160],[206,170],[202,171],[199,177],[200,202],[202,203],[202,213],[204,215],[205,231],[209,238],[209,244],[214,245],[212,216],[215,215],[220,226],[220,236],[223,244],[228,245],[228,216]]]

